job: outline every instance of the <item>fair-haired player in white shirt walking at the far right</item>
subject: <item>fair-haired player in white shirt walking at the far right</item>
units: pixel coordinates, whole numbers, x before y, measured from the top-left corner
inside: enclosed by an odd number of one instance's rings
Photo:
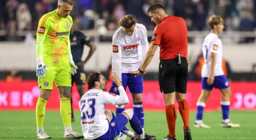
[[[221,93],[221,109],[222,109],[222,127],[239,127],[239,124],[231,123],[230,114],[230,95],[231,90],[226,76],[222,70],[222,42],[218,35],[223,32],[224,20],[220,16],[212,15],[209,18],[209,26],[211,33],[204,39],[202,47],[204,55],[204,65],[202,68],[202,92],[197,102],[195,127],[210,128],[203,123],[203,113],[205,102],[207,101],[212,88],[218,88]]]

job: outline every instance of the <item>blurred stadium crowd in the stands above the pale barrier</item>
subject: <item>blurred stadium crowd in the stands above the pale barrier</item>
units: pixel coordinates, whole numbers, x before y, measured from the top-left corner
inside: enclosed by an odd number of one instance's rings
[[[76,0],[71,12],[73,28],[90,30],[97,24],[100,33],[105,34],[119,28],[118,21],[125,14],[133,14],[151,31],[155,25],[146,11],[155,2],[162,3],[167,14],[183,17],[189,31],[209,30],[207,19],[212,14],[224,18],[226,31],[254,31],[256,27],[256,0]],[[57,0],[1,0],[0,40],[22,40],[16,36],[17,31],[37,30],[42,15],[56,7]],[[242,42],[254,42],[254,38]]]

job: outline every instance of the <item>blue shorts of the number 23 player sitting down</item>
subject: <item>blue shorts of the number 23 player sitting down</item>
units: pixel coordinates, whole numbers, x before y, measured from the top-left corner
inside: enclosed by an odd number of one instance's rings
[[[107,119],[108,120],[108,119]],[[128,123],[128,119],[125,115],[120,114],[115,119],[108,121],[108,131],[100,137],[97,137],[94,140],[113,140],[115,137],[125,128],[125,125]]]

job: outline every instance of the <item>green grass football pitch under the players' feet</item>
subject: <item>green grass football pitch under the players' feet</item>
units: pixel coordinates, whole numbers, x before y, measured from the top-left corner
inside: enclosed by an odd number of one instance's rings
[[[183,122],[178,114],[176,120],[177,140],[183,139]],[[73,130],[81,133],[79,112],[75,112]],[[204,123],[210,129],[193,127],[195,112],[190,113],[191,134],[193,140],[256,140],[256,112],[231,111],[230,118],[239,123],[239,128],[222,128],[221,111],[205,112]],[[131,129],[129,124],[128,129]],[[145,112],[145,132],[156,135],[163,140],[168,134],[165,112]],[[58,111],[47,111],[44,119],[44,130],[52,139],[63,139],[64,128],[61,114]],[[0,111],[0,140],[34,140],[36,139],[35,112],[33,111]],[[115,139],[116,140],[116,139]]]

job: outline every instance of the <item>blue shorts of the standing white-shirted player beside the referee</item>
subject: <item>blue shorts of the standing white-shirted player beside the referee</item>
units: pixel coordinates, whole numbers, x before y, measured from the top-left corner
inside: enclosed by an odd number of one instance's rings
[[[143,93],[143,78],[142,76],[134,77],[131,73],[122,73],[122,85],[126,91],[126,87],[129,87],[131,93]],[[119,95],[118,87],[112,82],[109,92]]]

